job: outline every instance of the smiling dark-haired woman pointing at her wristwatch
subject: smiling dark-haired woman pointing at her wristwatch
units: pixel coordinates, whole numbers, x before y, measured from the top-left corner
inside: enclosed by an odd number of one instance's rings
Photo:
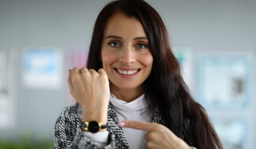
[[[55,149],[222,149],[181,77],[161,17],[143,0],[104,7],[87,68],[69,70],[68,84],[78,104],[58,117]]]

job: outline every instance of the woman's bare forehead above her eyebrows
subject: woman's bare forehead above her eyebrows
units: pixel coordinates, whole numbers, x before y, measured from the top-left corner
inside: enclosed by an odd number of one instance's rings
[[[109,34],[134,34],[134,36],[146,36],[141,22],[136,17],[128,17],[122,12],[113,14],[107,21],[104,29],[104,36]]]

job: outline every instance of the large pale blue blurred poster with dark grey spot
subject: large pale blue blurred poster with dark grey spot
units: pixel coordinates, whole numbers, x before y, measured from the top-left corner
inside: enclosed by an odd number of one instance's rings
[[[198,99],[206,109],[244,109],[250,104],[250,52],[205,52],[196,64]]]

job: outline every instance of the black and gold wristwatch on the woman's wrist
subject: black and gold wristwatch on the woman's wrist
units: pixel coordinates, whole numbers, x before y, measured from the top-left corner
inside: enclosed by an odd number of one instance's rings
[[[96,133],[98,131],[102,131],[102,129],[106,128],[106,124],[98,123],[97,121],[83,122],[81,121],[81,129],[84,131],[89,131],[92,133]]]

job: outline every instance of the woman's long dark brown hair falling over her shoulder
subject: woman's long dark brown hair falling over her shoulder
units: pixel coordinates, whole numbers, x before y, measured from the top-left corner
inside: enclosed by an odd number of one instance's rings
[[[151,111],[158,109],[167,126],[175,135],[184,138],[198,149],[222,149],[204,108],[191,97],[181,77],[181,69],[171,51],[169,35],[160,15],[143,0],[117,0],[107,4],[95,22],[87,61],[88,69],[102,68],[98,57],[104,29],[109,17],[123,12],[136,17],[147,34],[153,56],[150,76],[144,82],[144,94]],[[186,130],[184,120],[190,123]]]

